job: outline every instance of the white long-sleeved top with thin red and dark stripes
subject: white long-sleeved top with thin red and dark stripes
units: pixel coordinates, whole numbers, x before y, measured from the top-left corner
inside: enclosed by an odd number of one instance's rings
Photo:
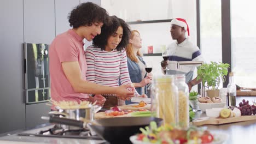
[[[102,51],[101,48],[89,46],[85,51],[88,69],[86,79],[99,85],[118,87],[132,83],[127,68],[125,50]],[[135,91],[135,95],[139,96]],[[122,102],[123,103],[123,102]]]

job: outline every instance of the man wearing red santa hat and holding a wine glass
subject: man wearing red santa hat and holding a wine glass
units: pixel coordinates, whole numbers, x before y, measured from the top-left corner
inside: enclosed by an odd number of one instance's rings
[[[185,74],[186,82],[191,88],[201,80],[193,79],[195,65],[182,65],[177,68],[177,62],[181,61],[203,61],[199,47],[191,43],[189,37],[189,27],[187,21],[181,18],[176,18],[171,21],[171,36],[176,42],[167,47],[168,60],[161,62],[162,70],[166,70],[166,75]]]

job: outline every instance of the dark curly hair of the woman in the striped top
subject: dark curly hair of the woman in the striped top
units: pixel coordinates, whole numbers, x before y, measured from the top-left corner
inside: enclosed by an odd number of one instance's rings
[[[115,32],[117,32],[118,27],[123,28],[123,37],[116,49],[118,51],[123,50],[124,47],[129,44],[131,30],[127,23],[124,20],[118,18],[117,16],[110,16],[110,22],[108,23],[108,25],[104,25],[101,28],[101,34],[96,35],[96,37],[92,40],[92,44],[95,47],[100,47],[101,50],[105,50],[108,38]]]

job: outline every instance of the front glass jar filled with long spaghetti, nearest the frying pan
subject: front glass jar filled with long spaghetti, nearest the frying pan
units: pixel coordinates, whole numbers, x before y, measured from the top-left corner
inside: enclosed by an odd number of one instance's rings
[[[178,123],[178,89],[173,75],[154,77],[150,96],[151,111],[154,117],[164,119],[165,124]]]

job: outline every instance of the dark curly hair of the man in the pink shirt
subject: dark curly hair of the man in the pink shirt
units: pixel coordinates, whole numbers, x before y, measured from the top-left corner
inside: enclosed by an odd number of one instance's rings
[[[91,26],[94,22],[108,23],[109,15],[106,9],[95,3],[81,3],[68,15],[69,26],[78,28],[80,26]]]

